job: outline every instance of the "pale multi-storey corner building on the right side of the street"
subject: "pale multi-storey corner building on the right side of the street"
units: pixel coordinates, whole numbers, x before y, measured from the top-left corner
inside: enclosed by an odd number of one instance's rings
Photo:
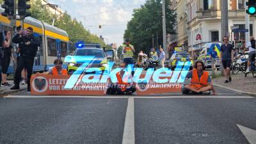
[[[177,3],[179,4],[179,3]],[[188,51],[192,54],[200,52],[205,43],[221,42],[221,0],[187,0],[176,6],[177,14],[186,8],[186,35],[188,35]],[[245,28],[245,0],[228,0],[228,33],[229,40],[234,41],[236,48],[239,42],[245,43],[245,33],[232,33],[232,27]],[[180,10],[182,9],[182,10]],[[177,17],[177,20],[180,18]],[[179,28],[180,27],[180,28]],[[177,33],[184,26],[177,24]],[[255,36],[256,19],[250,17],[250,35]],[[179,34],[178,34],[179,35]],[[178,44],[182,37],[177,36]],[[174,41],[170,41],[175,43]]]

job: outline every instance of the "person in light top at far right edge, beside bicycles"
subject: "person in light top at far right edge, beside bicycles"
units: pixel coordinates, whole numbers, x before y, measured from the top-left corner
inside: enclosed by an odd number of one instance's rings
[[[254,60],[255,58],[255,47],[256,47],[256,41],[254,40],[253,36],[250,36],[250,42],[246,42],[246,49],[244,51],[248,50],[249,51],[249,60],[247,61],[247,68],[246,68],[246,73],[250,72],[251,69],[251,61]]]

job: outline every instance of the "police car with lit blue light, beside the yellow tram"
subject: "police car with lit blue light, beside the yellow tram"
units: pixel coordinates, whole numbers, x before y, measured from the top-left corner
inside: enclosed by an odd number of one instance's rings
[[[111,57],[107,56],[104,50],[100,49],[99,47],[77,48],[73,56],[95,56],[95,60],[93,60],[92,63],[90,63],[90,65],[86,67],[86,68],[95,68],[95,71],[86,72],[86,74],[95,73],[96,71],[103,72],[106,66],[108,65],[108,60],[111,59]],[[70,61],[67,67],[68,74],[73,74],[78,67],[81,67],[81,65],[83,65],[82,61],[79,61],[79,60]]]

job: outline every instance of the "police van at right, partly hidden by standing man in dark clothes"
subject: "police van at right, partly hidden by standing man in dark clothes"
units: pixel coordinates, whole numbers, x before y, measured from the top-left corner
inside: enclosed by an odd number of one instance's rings
[[[202,47],[202,50],[200,51],[200,55],[198,56],[197,60],[203,61],[205,68],[211,68],[212,67],[212,61],[211,61],[211,47],[214,47],[215,45],[218,45],[220,47],[221,44],[219,43],[207,43]],[[220,50],[219,50],[220,51]],[[216,59],[216,68],[221,67],[221,61],[220,58],[218,57]]]

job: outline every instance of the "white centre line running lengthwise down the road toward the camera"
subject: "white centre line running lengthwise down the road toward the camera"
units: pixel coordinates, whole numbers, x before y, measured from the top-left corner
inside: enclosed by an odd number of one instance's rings
[[[127,111],[125,116],[124,134],[122,144],[134,144],[135,132],[134,132],[134,99],[129,97],[127,104]]]

